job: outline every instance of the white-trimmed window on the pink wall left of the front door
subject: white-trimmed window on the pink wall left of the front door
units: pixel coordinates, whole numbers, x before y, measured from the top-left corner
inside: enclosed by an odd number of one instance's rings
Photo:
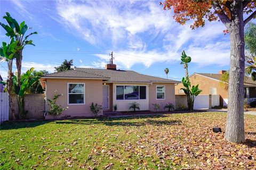
[[[68,83],[68,104],[79,105],[85,104],[85,84],[84,83]]]

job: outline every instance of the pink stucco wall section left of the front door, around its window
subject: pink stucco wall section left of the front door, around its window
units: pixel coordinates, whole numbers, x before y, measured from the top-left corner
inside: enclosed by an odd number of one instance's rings
[[[68,83],[85,83],[85,104],[68,105]],[[47,98],[53,98],[55,90],[58,90],[58,94],[63,94],[57,99],[57,103],[62,107],[68,106],[68,109],[60,117],[92,116],[90,111],[92,102],[102,105],[102,80],[47,79],[46,89]],[[52,118],[52,116],[47,115],[45,118]]]

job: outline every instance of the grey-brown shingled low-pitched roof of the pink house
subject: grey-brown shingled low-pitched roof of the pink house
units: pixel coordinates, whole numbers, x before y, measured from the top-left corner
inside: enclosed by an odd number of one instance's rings
[[[102,79],[106,82],[167,82],[177,83],[179,81],[158,78],[150,75],[140,74],[128,70],[107,70],[107,69],[87,69],[75,68],[58,73],[44,75],[42,78],[85,78],[85,79]]]

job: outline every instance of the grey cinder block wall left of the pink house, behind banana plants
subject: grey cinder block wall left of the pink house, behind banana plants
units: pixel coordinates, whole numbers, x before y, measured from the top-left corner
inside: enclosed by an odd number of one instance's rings
[[[18,103],[15,95],[12,95],[13,108],[18,113]],[[28,111],[28,119],[43,119],[45,110],[44,94],[27,94],[25,96],[25,110]],[[11,109],[9,109],[11,116]]]

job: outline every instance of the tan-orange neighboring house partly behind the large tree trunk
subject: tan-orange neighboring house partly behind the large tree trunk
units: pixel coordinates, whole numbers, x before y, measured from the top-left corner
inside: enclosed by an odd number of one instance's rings
[[[228,83],[220,80],[221,75],[225,72],[226,71],[222,70],[219,71],[218,74],[194,73],[190,75],[189,80],[192,85],[199,84],[199,88],[203,90],[200,95],[220,95],[220,105],[227,106]],[[180,88],[183,88],[182,83],[175,86],[175,95],[185,95]],[[256,82],[250,77],[245,77],[244,79],[244,98],[247,98],[249,101],[256,99]]]

